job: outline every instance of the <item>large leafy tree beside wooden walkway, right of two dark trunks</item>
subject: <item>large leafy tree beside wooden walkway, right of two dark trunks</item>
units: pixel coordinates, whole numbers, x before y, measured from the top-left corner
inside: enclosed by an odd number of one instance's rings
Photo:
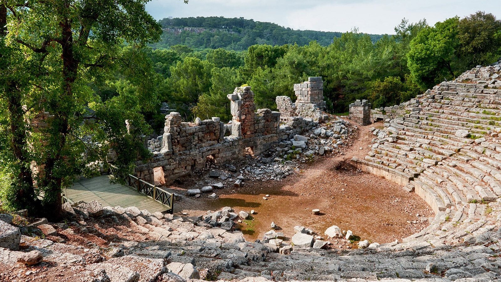
[[[4,3],[10,11],[6,46],[21,50],[27,61],[38,64],[37,73],[24,77],[30,87],[19,91],[19,99],[28,106],[24,120],[48,112],[46,126],[38,132],[28,131],[23,124],[18,129],[31,136],[30,146],[21,144],[38,165],[36,183],[43,192],[43,210],[58,219],[61,189],[75,175],[90,174],[95,167],[89,164],[105,162],[108,149],[115,149],[122,171],[131,168],[137,154],[146,156],[136,135],[147,127],[137,110],[152,108],[156,102],[155,92],[150,92],[154,88],[146,82],[156,74],[146,57],[140,56],[140,47],[159,38],[161,29],[145,11],[143,0]],[[119,48],[124,41],[132,46],[130,52]],[[10,62],[7,67],[18,66]],[[124,77],[134,83],[135,94],[123,92],[102,101],[93,85],[105,85],[117,68],[129,68]],[[32,106],[32,100],[38,103]],[[131,119],[136,131],[129,134],[124,119]],[[17,135],[14,131],[10,134]],[[84,142],[85,136],[102,146]]]

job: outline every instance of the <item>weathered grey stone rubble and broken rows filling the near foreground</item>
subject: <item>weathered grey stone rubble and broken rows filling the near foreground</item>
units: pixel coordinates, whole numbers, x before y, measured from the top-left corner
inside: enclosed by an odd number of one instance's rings
[[[501,200],[491,208],[491,216],[501,219]],[[57,230],[51,237],[36,237],[37,227],[9,224],[25,230],[22,250],[0,247],[0,280],[479,282],[499,281],[501,275],[499,226],[476,229],[474,240],[456,245],[359,241],[359,249],[333,251],[302,226],[294,228],[293,238],[270,230],[263,240],[248,242],[241,232],[201,226],[205,220],[194,224],[192,218],[137,208],[91,203],[65,204],[64,210],[67,224],[49,223]],[[220,220],[232,211],[212,212],[210,221],[214,213]]]

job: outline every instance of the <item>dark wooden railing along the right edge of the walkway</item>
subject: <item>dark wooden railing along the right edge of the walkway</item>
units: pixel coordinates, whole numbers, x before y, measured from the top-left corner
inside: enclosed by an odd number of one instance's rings
[[[130,186],[137,190],[137,192],[150,197],[151,199],[167,206],[167,211],[172,214],[174,211],[174,195],[163,190],[160,187],[156,187],[144,180],[141,180],[131,174],[127,174],[125,176],[120,175],[118,173],[117,168],[113,165],[110,165],[110,174],[115,178],[122,178],[125,180],[127,186]]]

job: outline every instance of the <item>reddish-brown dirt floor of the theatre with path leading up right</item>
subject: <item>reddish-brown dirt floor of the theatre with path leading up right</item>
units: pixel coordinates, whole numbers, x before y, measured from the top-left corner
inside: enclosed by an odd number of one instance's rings
[[[416,194],[407,193],[384,178],[357,172],[347,162],[354,156],[364,158],[374,137],[368,129],[381,125],[359,126],[358,136],[343,154],[316,158],[315,162],[300,166],[300,173],[282,181],[246,180],[239,189],[216,191],[216,200],[206,198],[207,195],[198,199],[183,196],[175,202],[175,213],[196,217],[224,206],[236,212],[255,210],[253,220],[237,225],[248,240],[261,239],[272,221],[288,237],[295,233],[297,225],[322,236],[329,226],[338,225],[342,230],[352,230],[361,240],[401,240],[428,225],[430,207]],[[185,195],[186,189],[199,188],[194,184],[193,177],[187,177],[167,188]],[[266,195],[267,200],[263,198]],[[321,214],[312,215],[312,209],[320,209]],[[331,242],[333,247],[351,247],[346,240]]]

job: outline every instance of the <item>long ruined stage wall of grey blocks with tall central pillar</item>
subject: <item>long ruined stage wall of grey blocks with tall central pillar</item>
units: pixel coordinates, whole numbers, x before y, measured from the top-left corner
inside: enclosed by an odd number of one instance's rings
[[[171,112],[165,117],[163,148],[148,163],[136,163],[135,174],[152,183],[153,169],[161,167],[165,180],[175,180],[194,168],[204,168],[206,162],[227,164],[243,158],[249,148],[254,155],[270,149],[280,140],[309,130],[318,122],[303,117],[287,118],[280,125],[280,112],[259,109],[255,112],[254,93],[250,87],[238,87],[228,95],[231,101],[231,135],[229,127],[219,118],[182,122],[181,115]]]

